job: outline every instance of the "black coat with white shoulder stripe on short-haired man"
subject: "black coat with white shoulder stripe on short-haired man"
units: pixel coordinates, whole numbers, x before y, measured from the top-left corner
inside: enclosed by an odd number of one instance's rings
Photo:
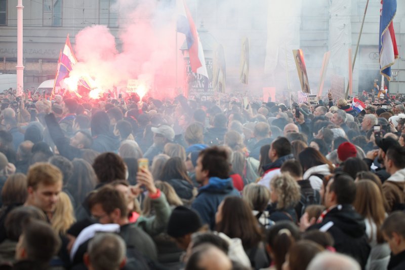
[[[364,269],[370,254],[366,224],[352,205],[338,205],[323,217],[322,222],[308,229],[320,229],[330,233],[337,252],[353,257]]]

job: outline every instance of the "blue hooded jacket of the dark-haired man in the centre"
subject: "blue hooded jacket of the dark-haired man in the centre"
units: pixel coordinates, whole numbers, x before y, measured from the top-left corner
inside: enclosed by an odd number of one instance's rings
[[[197,198],[191,204],[191,208],[196,210],[201,221],[210,225],[213,230],[217,208],[227,196],[239,196],[239,192],[233,187],[232,178],[211,177],[208,185],[199,188]]]

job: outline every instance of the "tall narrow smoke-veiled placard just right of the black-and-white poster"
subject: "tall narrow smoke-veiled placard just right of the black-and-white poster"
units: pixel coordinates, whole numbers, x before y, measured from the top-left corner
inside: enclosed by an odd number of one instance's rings
[[[213,60],[213,75],[212,75],[212,87],[219,93],[225,93],[226,82],[226,62],[224,47],[222,44],[218,45],[214,52]]]

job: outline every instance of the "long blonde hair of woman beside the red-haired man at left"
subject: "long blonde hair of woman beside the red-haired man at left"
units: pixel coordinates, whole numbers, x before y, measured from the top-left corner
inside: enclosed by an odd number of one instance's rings
[[[65,192],[59,193],[55,212],[52,215],[51,225],[59,235],[65,236],[66,231],[76,221],[73,205]]]

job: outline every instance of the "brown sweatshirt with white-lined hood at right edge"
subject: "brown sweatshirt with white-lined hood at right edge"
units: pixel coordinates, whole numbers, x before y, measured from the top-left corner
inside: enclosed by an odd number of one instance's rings
[[[396,171],[383,183],[383,194],[387,199],[387,212],[403,210],[405,207],[405,168]]]

